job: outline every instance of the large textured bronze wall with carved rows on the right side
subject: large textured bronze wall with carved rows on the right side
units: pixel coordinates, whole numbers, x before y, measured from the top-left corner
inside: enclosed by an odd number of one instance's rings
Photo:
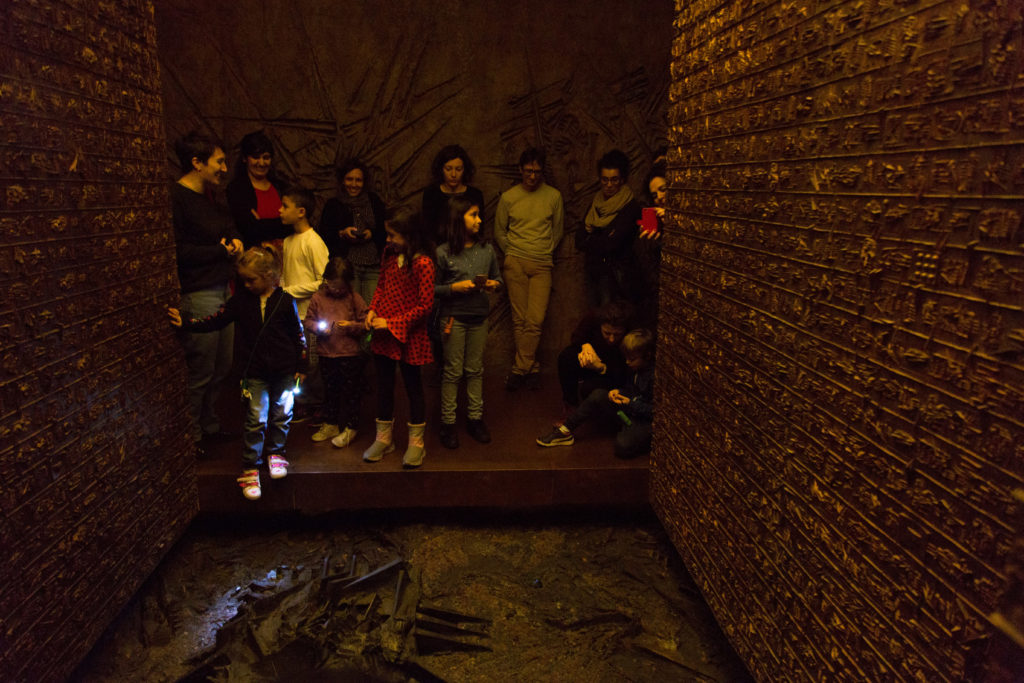
[[[652,496],[763,680],[1012,676],[1021,7],[677,3]]]

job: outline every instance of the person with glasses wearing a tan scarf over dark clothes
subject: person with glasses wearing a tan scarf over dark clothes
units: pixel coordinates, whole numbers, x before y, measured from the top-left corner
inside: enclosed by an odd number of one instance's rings
[[[626,184],[630,160],[612,150],[597,162],[601,188],[594,196],[582,230],[575,232],[577,249],[584,252],[587,301],[593,308],[612,299],[636,301],[633,238],[640,220],[640,204]]]

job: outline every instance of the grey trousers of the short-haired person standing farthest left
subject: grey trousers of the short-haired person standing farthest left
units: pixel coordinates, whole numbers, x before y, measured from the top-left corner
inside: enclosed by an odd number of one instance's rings
[[[228,299],[227,286],[181,295],[181,316],[202,319],[217,312]],[[217,397],[224,378],[231,371],[234,326],[217,332],[185,335],[185,366],[188,369],[188,413],[193,418],[193,439],[220,431]]]

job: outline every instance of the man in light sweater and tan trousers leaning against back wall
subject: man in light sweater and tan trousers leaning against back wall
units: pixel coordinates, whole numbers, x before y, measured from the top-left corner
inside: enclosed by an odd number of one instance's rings
[[[544,181],[545,154],[530,147],[519,157],[522,181],[502,194],[495,241],[505,254],[502,272],[512,308],[515,358],[505,388],[540,386],[537,348],[548,312],[554,253],[562,239],[562,195]]]

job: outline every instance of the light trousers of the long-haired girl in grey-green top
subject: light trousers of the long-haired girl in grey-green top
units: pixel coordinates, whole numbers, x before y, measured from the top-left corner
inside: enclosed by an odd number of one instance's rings
[[[455,424],[455,409],[459,395],[459,380],[466,375],[466,417],[483,417],[483,345],[487,341],[487,324],[467,325],[455,321],[452,333],[444,340],[444,373],[441,376],[441,422]]]

